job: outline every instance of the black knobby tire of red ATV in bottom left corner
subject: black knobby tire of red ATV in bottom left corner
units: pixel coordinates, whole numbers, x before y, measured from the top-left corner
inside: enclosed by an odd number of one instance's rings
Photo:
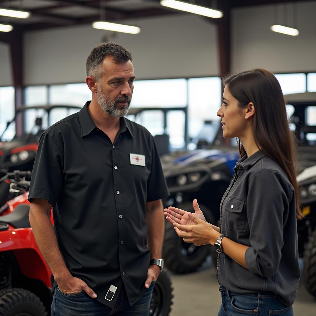
[[[46,316],[40,299],[25,289],[3,289],[0,291],[0,316]]]

